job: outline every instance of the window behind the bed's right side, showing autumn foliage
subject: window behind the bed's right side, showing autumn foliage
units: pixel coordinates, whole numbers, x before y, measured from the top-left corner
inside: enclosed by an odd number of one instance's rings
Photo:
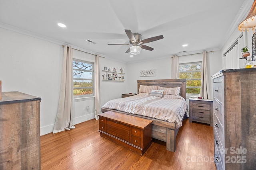
[[[196,94],[196,96],[198,96],[200,93],[201,67],[202,67],[202,62],[179,64],[180,78],[187,79],[186,93],[188,95],[193,96],[193,94]]]

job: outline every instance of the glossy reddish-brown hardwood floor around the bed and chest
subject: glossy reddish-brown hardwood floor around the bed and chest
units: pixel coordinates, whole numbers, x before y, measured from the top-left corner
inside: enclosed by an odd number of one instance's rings
[[[41,136],[42,170],[214,170],[213,127],[186,119],[176,138],[176,151],[152,140],[140,156],[103,137],[95,119],[76,129]]]

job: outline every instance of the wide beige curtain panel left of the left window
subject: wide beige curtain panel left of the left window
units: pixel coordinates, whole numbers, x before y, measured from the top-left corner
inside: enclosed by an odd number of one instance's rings
[[[73,125],[73,59],[72,48],[64,46],[60,98],[52,133],[74,129]]]

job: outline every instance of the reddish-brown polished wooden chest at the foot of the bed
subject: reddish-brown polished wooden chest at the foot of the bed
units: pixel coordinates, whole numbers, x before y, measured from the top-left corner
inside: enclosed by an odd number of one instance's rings
[[[151,145],[152,121],[107,111],[99,114],[100,136],[142,155]]]

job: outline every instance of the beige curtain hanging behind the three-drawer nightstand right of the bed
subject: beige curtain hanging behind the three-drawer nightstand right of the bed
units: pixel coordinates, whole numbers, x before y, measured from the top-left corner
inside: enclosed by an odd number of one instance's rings
[[[206,54],[207,54],[206,51],[203,51],[202,71],[201,71],[201,89],[200,89],[199,96],[204,97],[204,99],[211,99]]]

